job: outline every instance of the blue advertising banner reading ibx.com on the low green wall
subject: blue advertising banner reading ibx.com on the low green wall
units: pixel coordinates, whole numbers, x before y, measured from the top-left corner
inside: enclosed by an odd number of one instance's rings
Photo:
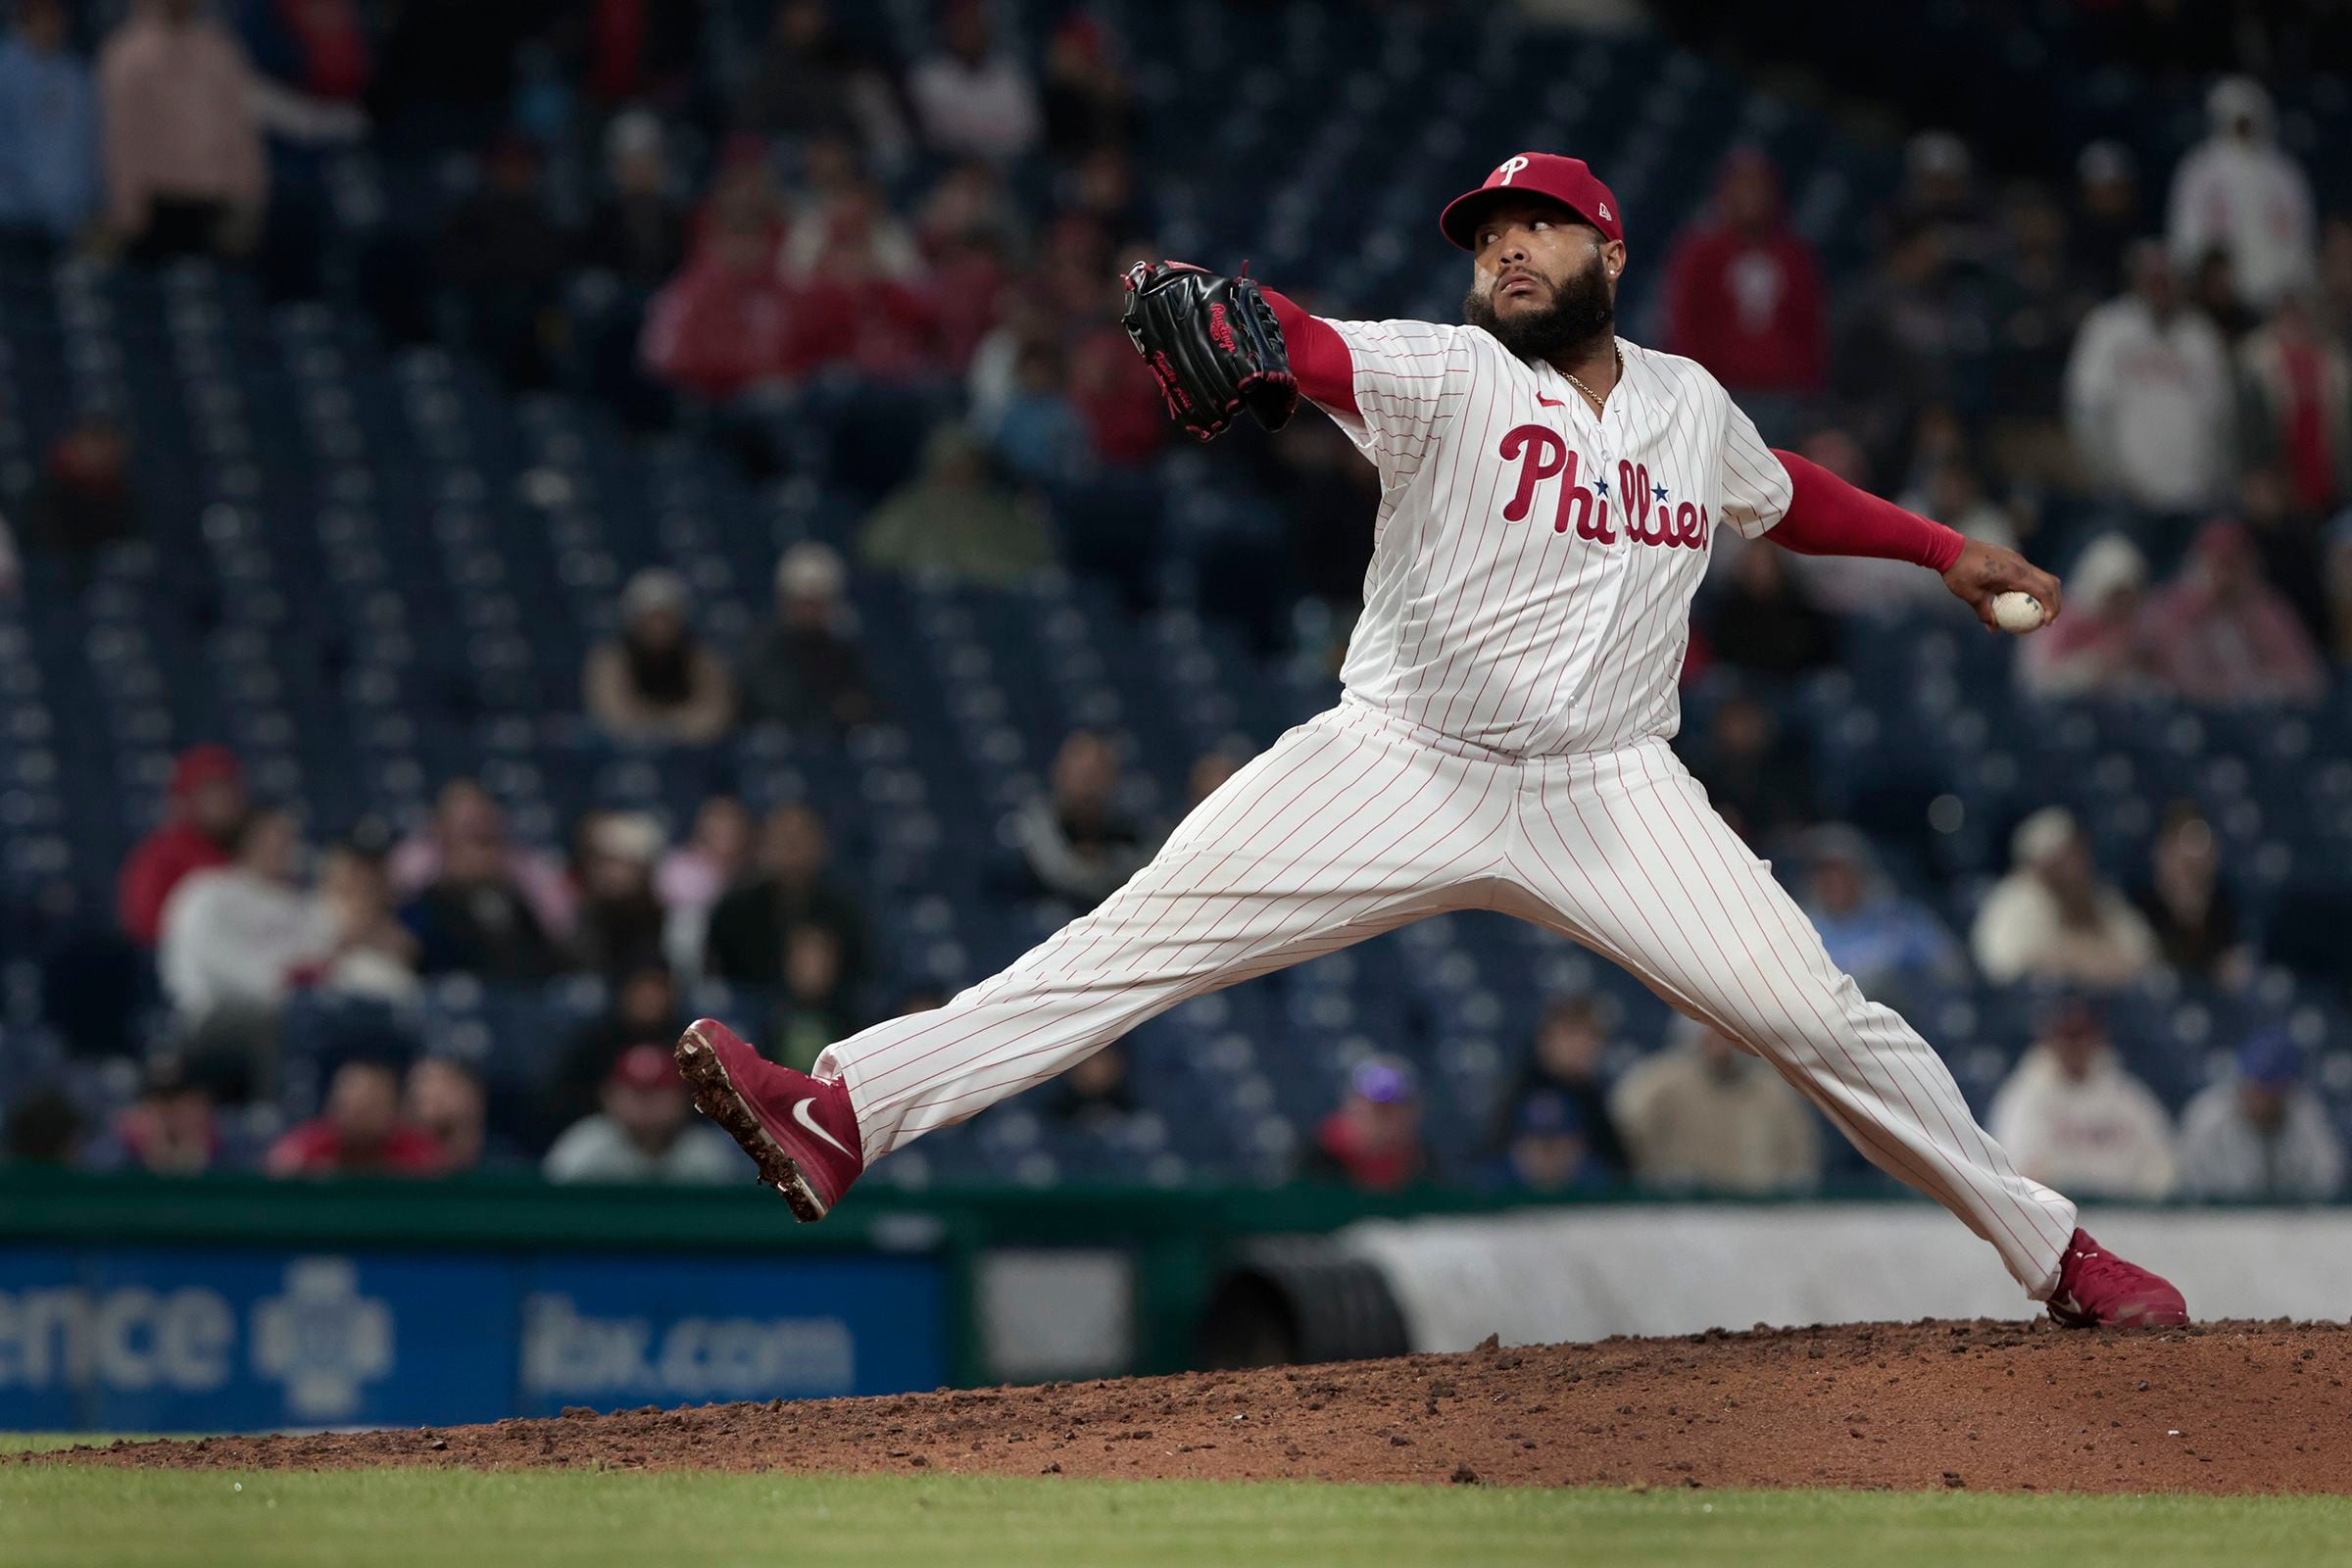
[[[929,1258],[0,1248],[0,1429],[459,1425],[946,1368]]]

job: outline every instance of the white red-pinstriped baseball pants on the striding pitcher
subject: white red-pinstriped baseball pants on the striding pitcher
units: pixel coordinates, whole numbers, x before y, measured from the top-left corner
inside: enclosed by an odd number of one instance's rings
[[[1771,1063],[2046,1298],[2074,1206],[1976,1126],[1950,1070],[1830,964],[1665,741],[1501,757],[1341,703],[1202,802],[1091,914],[943,1009],[818,1060],[868,1159],[1040,1084],[1145,1018],[1442,910],[1503,910],[1616,959]]]

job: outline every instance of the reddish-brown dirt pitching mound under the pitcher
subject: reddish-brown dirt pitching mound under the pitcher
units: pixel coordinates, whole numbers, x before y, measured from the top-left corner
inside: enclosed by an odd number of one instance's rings
[[[2352,1493],[2352,1331],[1846,1324],[562,1420],[115,1443],[94,1465]],[[47,1460],[33,1460],[47,1462]]]

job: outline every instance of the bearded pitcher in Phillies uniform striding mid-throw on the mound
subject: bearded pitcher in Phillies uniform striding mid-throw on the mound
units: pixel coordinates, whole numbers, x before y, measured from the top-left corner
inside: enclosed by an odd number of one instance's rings
[[[696,1023],[677,1044],[696,1105],[818,1220],[866,1164],[1185,997],[1423,914],[1505,910],[1771,1063],[2060,1324],[2187,1321],[2171,1284],[2018,1175],[1668,745],[1719,529],[1938,571],[1987,628],[1999,595],[2056,616],[2056,578],[1773,451],[1705,369],[1621,339],[1623,209],[1581,160],[1505,158],[1439,228],[1470,254],[1461,324],[1329,322],[1176,263],[1127,280],[1127,329],[1178,423],[1209,440],[1247,409],[1279,428],[1303,395],[1381,473],[1338,705],[1098,910],[943,1009],[835,1044],[814,1077]]]

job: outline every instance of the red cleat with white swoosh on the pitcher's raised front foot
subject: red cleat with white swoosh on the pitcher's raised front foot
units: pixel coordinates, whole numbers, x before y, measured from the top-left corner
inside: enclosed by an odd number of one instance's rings
[[[840,1079],[779,1067],[715,1018],[677,1037],[677,1072],[694,1107],[727,1128],[807,1225],[842,1201],[866,1171],[858,1117]]]

